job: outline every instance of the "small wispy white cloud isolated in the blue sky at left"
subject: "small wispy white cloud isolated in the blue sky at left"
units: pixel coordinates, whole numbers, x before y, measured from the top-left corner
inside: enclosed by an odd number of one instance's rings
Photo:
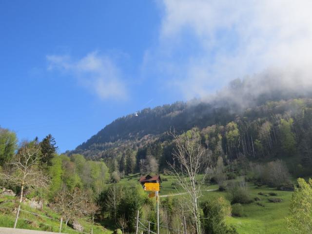
[[[48,70],[59,70],[74,76],[78,84],[101,99],[126,99],[127,90],[121,72],[112,59],[97,52],[82,59],[70,56],[48,55]]]

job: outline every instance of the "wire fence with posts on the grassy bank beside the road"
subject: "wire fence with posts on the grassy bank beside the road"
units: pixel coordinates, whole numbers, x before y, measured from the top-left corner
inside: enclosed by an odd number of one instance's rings
[[[0,206],[0,208],[7,209],[7,210],[11,211],[12,214],[14,214],[14,208],[12,208],[12,207]],[[75,229],[69,229],[70,227],[68,227],[67,225],[65,225],[65,227],[62,227],[63,223],[64,223],[62,217],[57,219],[57,218],[49,217],[49,216],[46,216],[46,215],[40,215],[40,214],[37,214],[37,213],[34,213],[34,212],[30,212],[30,211],[26,211],[26,210],[20,209],[20,207],[18,208],[17,212],[18,213],[22,212],[22,213],[26,213],[26,214],[42,217],[42,218],[48,218],[50,220],[54,220],[56,222],[59,222],[59,225],[56,226],[56,225],[51,225],[51,224],[47,224],[47,223],[44,223],[44,222],[40,222],[39,223],[39,222],[37,222],[35,220],[31,220],[31,219],[24,218],[24,217],[18,218],[16,222],[18,222],[18,220],[24,220],[24,221],[27,221],[28,223],[31,223],[31,224],[37,224],[38,227],[40,227],[41,225],[42,226],[51,227],[51,229],[52,229],[51,231],[53,231],[53,228],[54,228],[54,230],[58,230],[58,233],[62,233],[62,231],[65,231],[67,233],[68,232],[73,232],[73,233],[81,233],[81,234],[93,234],[93,228],[91,228],[91,232],[90,233],[86,233],[86,232],[78,231],[78,230],[75,230]],[[24,226],[23,226],[23,228],[24,228]]]

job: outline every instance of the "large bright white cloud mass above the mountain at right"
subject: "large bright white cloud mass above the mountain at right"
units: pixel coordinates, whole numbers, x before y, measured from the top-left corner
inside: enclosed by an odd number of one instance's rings
[[[186,98],[275,68],[303,74],[285,82],[311,84],[311,0],[163,0],[162,6],[159,47],[145,63],[157,63]]]

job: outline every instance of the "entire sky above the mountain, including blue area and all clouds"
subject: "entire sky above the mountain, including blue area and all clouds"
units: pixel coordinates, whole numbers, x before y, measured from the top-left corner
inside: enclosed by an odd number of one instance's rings
[[[117,117],[311,67],[310,0],[2,0],[0,126],[74,149]]]

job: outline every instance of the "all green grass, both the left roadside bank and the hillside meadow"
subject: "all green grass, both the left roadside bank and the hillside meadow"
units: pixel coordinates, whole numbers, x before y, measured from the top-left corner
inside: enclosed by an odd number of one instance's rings
[[[175,182],[175,178],[172,176],[162,176],[166,178],[167,181],[163,181],[160,188],[160,195],[167,194],[176,194],[179,192],[183,192],[178,186],[172,185]],[[138,182],[139,175],[126,176],[121,179],[118,185],[125,187],[135,186]],[[175,188],[177,187],[177,188]],[[215,189],[217,185],[211,186],[203,186],[201,200],[205,199],[216,199],[219,196],[224,196],[227,199],[230,199],[230,195],[227,192],[205,192],[206,189]],[[277,193],[277,198],[282,198],[284,201],[282,203],[270,203],[268,201],[268,196],[258,195],[259,192],[263,192],[268,195],[270,192]],[[256,202],[251,204],[243,205],[244,206],[244,214],[243,217],[228,217],[227,223],[233,225],[239,234],[290,234],[285,227],[284,218],[289,213],[289,205],[292,197],[291,192],[283,192],[276,191],[272,188],[263,187],[257,188],[252,183],[249,183],[249,193],[252,198],[259,197],[261,200],[260,203],[264,204],[265,207],[259,206]],[[14,197],[5,196],[0,197],[0,202],[2,200],[11,199],[12,202],[0,204],[0,207],[9,207],[11,211],[14,207]],[[161,202],[161,199],[160,199]],[[26,205],[22,206],[23,210],[35,212],[40,215],[45,215],[49,217],[53,217],[59,219],[59,215],[53,213],[48,207],[44,207],[43,211],[38,211],[35,209],[31,209]],[[13,227],[15,215],[12,212],[8,212],[5,208],[0,208],[0,226],[2,227]],[[51,220],[48,218],[38,217],[31,214],[27,214],[22,212],[20,215],[20,220],[18,222],[18,228],[25,229],[34,229],[34,230],[46,230],[46,231],[54,231],[58,232],[59,221]],[[22,218],[26,218],[32,220],[33,222],[29,222],[23,220]],[[87,221],[87,219],[79,219],[79,222],[85,228],[85,232],[89,232],[91,230],[92,224]],[[49,226],[50,225],[50,226]],[[54,226],[54,227],[53,227]],[[64,227],[64,225],[63,225]],[[111,234],[114,228],[111,227],[111,230],[104,229],[102,226],[95,225],[94,234]],[[77,233],[72,231],[71,228],[65,227],[62,229],[64,233],[72,234]]]

